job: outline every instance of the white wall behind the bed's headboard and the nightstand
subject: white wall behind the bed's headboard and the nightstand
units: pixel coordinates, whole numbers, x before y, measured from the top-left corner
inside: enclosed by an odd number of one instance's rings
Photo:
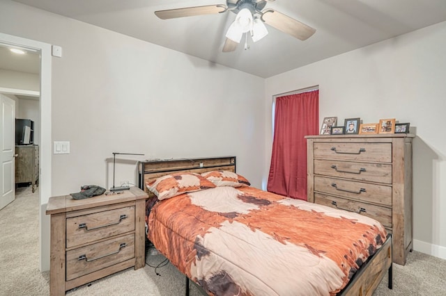
[[[235,155],[261,186],[263,79],[8,0],[0,30],[63,48],[52,59],[52,140],[70,141],[71,153],[52,157],[52,195],[111,186],[114,151]],[[135,171],[135,161],[118,162],[116,181],[135,181]]]

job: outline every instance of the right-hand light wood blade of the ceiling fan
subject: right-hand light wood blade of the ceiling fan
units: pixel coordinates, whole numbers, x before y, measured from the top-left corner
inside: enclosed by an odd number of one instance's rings
[[[263,22],[300,40],[307,40],[314,34],[314,32],[316,32],[315,28],[298,22],[275,10],[267,9],[262,13],[263,15],[261,16],[261,19]]]

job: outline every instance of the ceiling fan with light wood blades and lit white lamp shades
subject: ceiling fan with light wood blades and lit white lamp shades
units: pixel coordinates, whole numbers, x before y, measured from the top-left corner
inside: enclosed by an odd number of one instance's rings
[[[245,33],[245,37],[247,38],[248,34],[251,35],[254,42],[265,37],[268,34],[265,24],[300,40],[307,40],[316,32],[316,29],[302,24],[283,13],[268,8],[263,9],[268,1],[275,0],[226,0],[226,5],[215,4],[158,10],[155,11],[155,15],[160,19],[174,19],[196,15],[213,15],[226,13],[226,11],[235,13],[237,15],[236,20],[229,26],[226,32],[226,41],[223,45],[224,52],[236,50]],[[245,49],[247,49],[247,42],[245,42]]]

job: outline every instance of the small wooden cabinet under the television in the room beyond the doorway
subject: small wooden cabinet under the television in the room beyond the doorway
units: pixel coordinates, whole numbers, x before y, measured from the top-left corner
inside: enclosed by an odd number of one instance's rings
[[[17,145],[15,154],[15,183],[31,183],[34,192],[39,179],[39,147]]]

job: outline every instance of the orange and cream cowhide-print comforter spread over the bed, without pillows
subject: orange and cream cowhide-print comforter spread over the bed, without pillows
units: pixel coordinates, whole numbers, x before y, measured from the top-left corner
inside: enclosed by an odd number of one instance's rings
[[[148,239],[209,295],[334,295],[387,236],[369,217],[252,187],[149,209]]]

